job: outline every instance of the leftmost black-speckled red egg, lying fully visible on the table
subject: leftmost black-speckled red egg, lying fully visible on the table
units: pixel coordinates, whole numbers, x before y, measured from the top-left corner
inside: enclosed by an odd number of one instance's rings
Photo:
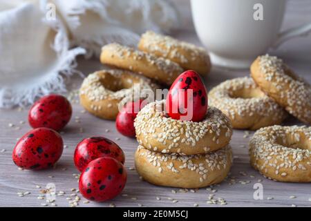
[[[63,153],[63,140],[50,128],[37,128],[17,142],[12,159],[23,169],[46,169],[53,166]]]

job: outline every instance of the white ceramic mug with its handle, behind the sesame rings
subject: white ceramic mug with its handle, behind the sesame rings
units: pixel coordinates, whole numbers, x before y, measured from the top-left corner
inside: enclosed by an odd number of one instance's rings
[[[311,32],[311,23],[279,33],[285,0],[191,0],[194,26],[211,62],[249,68],[268,48]]]

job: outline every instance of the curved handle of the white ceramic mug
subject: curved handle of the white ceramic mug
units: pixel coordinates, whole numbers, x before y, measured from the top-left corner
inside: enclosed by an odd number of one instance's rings
[[[311,23],[307,23],[302,26],[298,26],[295,28],[290,28],[288,30],[285,30],[281,33],[279,33],[276,41],[274,42],[272,48],[278,48],[281,44],[283,44],[285,41],[288,41],[289,39],[292,39],[294,37],[303,37],[307,36],[311,33]]]

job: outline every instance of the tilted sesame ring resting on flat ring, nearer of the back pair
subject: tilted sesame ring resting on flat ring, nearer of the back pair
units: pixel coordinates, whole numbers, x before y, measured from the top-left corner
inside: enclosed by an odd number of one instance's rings
[[[173,61],[120,44],[104,46],[100,61],[102,64],[131,70],[167,85],[171,85],[183,72],[183,69]]]

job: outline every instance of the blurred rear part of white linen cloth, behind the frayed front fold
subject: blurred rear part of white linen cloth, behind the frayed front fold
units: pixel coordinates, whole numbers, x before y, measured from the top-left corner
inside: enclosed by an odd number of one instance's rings
[[[169,32],[178,26],[176,8],[167,0],[54,0],[73,36],[90,54],[116,41],[133,46],[146,30]]]

